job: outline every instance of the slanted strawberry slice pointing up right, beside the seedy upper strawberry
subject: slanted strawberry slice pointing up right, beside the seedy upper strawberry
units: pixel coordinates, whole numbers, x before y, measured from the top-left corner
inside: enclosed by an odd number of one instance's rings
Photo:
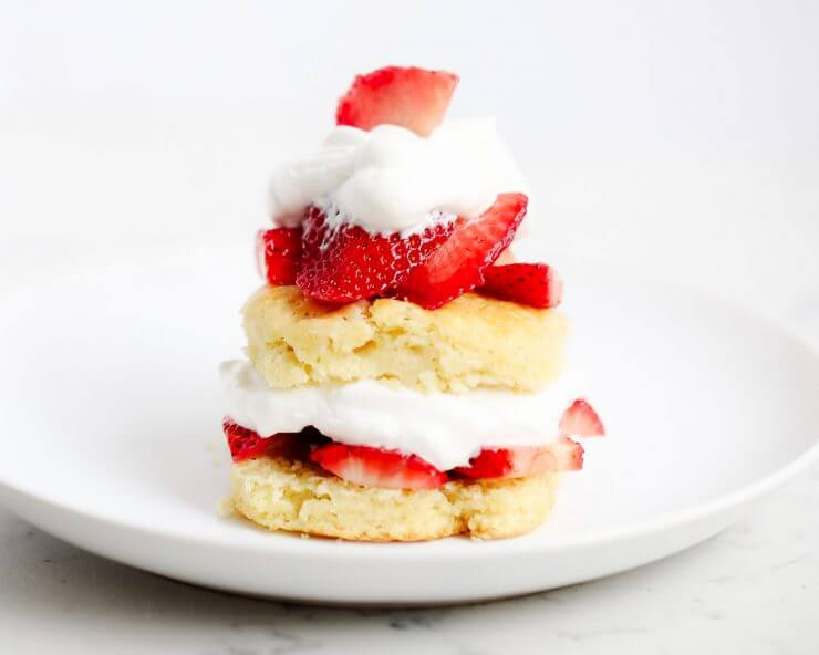
[[[435,310],[483,284],[484,271],[515,237],[527,202],[523,194],[501,194],[479,217],[458,222],[449,239],[398,285],[397,298]]]

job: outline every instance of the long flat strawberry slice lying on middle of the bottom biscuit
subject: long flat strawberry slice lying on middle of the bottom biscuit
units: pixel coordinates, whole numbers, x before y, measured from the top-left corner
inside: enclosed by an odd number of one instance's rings
[[[433,489],[447,481],[446,474],[432,464],[397,450],[329,444],[315,448],[310,459],[348,482],[364,487]]]

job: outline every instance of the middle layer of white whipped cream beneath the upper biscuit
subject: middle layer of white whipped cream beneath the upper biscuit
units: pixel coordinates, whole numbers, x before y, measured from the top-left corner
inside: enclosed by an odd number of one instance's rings
[[[440,470],[484,447],[556,440],[563,412],[582,397],[571,371],[535,394],[424,394],[375,381],[276,389],[245,361],[225,362],[219,373],[228,416],[262,437],[312,425],[335,441],[415,454]]]

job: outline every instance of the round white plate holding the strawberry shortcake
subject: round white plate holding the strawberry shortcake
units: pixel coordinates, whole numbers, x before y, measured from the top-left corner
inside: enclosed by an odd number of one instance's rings
[[[0,304],[0,500],[163,575],[325,603],[423,604],[608,575],[715,534],[816,458],[819,362],[728,304],[567,275],[574,356],[609,436],[550,520],[496,542],[344,543],[217,513],[217,363],[239,354],[247,249],[54,271]]]

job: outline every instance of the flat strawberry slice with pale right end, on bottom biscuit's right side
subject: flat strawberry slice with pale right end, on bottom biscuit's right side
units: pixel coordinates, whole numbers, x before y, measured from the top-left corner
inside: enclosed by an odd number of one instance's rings
[[[469,466],[455,470],[468,478],[521,478],[549,471],[583,468],[583,447],[561,437],[547,446],[484,448]]]

